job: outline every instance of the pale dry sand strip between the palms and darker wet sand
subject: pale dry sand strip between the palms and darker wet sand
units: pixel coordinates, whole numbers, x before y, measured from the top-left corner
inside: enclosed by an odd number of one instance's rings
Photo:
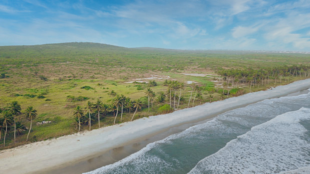
[[[44,171],[46,168],[74,162],[96,152],[120,146],[130,140],[151,135],[165,128],[214,115],[223,110],[274,98],[310,88],[310,79],[300,80],[272,90],[249,93],[223,101],[206,103],[170,114],[152,116],[133,122],[100,128],[83,134],[23,145],[0,151],[0,174],[21,174]]]

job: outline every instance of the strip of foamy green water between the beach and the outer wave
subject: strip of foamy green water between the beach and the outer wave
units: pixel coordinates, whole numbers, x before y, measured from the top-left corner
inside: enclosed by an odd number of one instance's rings
[[[310,94],[268,99],[230,110],[204,124],[150,143],[128,157],[88,174],[186,174],[201,159],[216,153],[252,127],[302,106],[310,108]]]

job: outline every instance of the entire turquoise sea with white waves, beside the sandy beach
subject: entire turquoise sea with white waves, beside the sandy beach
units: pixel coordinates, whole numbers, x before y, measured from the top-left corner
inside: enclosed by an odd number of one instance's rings
[[[268,99],[148,144],[89,174],[280,173],[310,166],[310,93]],[[306,169],[307,170],[307,169]]]

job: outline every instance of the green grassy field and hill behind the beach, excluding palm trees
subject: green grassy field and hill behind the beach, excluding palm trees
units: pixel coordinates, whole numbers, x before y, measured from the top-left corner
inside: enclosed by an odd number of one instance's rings
[[[263,82],[263,80],[266,81],[266,76],[261,75],[259,76],[261,85],[259,85],[259,78],[257,77],[258,85],[255,81],[255,86],[253,85],[251,90],[249,89],[250,81],[240,83],[239,86],[232,84],[230,88],[225,88],[218,74],[220,68],[242,70],[252,68],[258,70],[283,67],[284,65],[305,67],[298,71],[298,75],[297,72],[296,74],[290,72],[289,75],[288,71],[288,74],[277,72],[277,76],[270,74],[268,75],[270,81],[268,84]],[[194,102],[194,105],[199,105],[209,102],[209,95],[213,96],[212,101],[216,101],[220,100],[223,94],[224,98],[236,96],[308,78],[310,71],[307,66],[309,65],[309,54],[124,48],[106,44],[77,42],[33,46],[0,46],[0,74],[4,74],[2,75],[3,78],[0,78],[0,108],[3,110],[8,103],[17,101],[22,112],[28,106],[33,106],[37,110],[37,117],[32,122],[32,130],[27,142],[30,143],[77,132],[73,108],[77,105],[84,108],[88,101],[95,102],[97,99],[100,99],[102,103],[111,104],[112,97],[108,95],[111,90],[119,95],[129,97],[132,101],[135,99],[142,100],[143,107],[138,110],[134,119],[164,113],[162,108],[159,108],[164,104],[169,104],[169,93],[166,93],[163,103],[158,104],[154,99],[153,108],[148,112],[145,95],[148,84],[126,83],[139,81],[136,80],[137,78],[146,82],[149,79],[143,78],[159,77],[183,82],[184,88],[181,91],[181,96],[184,101],[179,107],[182,109],[187,107],[191,93],[191,86],[186,83],[187,81],[193,81],[199,86],[199,97],[196,97]],[[198,77],[182,73],[208,75]],[[225,80],[228,85],[232,77],[227,76],[227,79]],[[159,92],[167,91],[168,87],[164,86],[165,79],[155,78],[154,80],[157,86],[150,88],[156,96]],[[227,96],[228,90],[229,96]],[[175,93],[178,95],[179,89]],[[193,91],[193,95],[194,93],[195,91]],[[68,96],[71,96],[71,99]],[[74,101],[72,96],[74,99],[81,96],[78,99],[82,101]],[[192,106],[192,103],[189,106]],[[134,110],[129,114],[124,110],[122,122],[130,121],[133,112]],[[96,113],[93,113],[92,116],[94,121],[91,124],[91,129],[96,129],[98,128]],[[112,112],[107,113],[107,115],[101,113],[100,116],[101,126],[113,124]],[[20,121],[29,128],[30,122],[22,114],[16,117],[16,121]],[[51,121],[51,123],[36,124],[41,121]],[[120,123],[119,116],[117,116],[116,122]],[[2,148],[3,125],[1,130],[0,147]],[[88,126],[82,125],[82,130],[88,130]],[[13,143],[13,132],[9,131],[8,133],[5,148],[26,143],[27,131],[17,136],[15,144]]]

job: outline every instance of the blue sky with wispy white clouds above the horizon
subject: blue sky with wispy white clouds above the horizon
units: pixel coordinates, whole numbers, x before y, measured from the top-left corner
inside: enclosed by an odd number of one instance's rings
[[[310,0],[0,0],[0,45],[310,52]]]

